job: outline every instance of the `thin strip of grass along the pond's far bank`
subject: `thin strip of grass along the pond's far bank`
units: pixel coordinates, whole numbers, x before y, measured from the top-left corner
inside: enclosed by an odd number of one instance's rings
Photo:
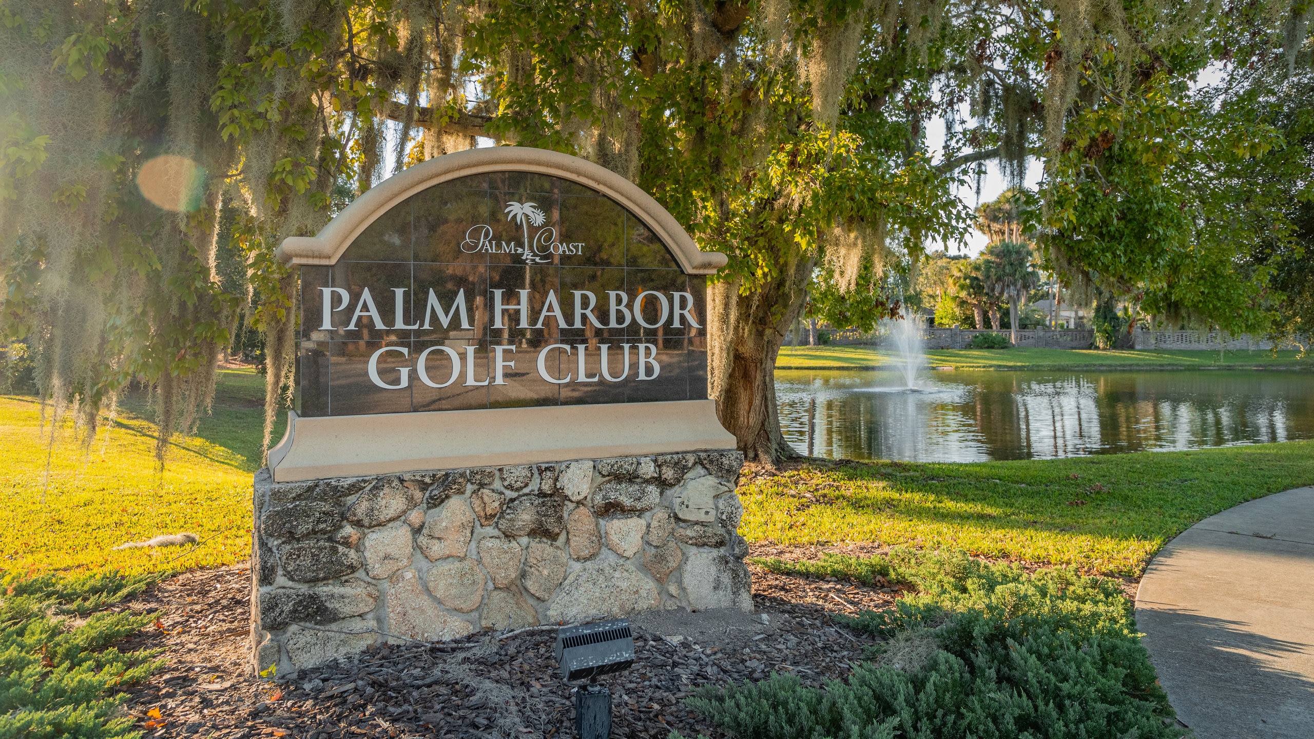
[[[1314,370],[1297,351],[1099,351],[1071,348],[951,348],[928,351],[930,367],[954,370]],[[777,370],[890,368],[894,354],[870,346],[787,346]]]

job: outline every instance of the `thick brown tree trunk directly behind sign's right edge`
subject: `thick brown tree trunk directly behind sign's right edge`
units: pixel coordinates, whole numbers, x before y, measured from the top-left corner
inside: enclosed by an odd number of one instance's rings
[[[750,295],[740,295],[740,280],[707,287],[707,394],[748,460],[777,464],[799,456],[781,433],[775,356],[803,309],[815,263],[800,258]]]

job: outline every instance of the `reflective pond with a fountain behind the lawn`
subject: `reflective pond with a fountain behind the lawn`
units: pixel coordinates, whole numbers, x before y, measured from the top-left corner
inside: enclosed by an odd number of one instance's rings
[[[982,462],[1314,438],[1301,372],[779,371],[784,438],[830,459]]]

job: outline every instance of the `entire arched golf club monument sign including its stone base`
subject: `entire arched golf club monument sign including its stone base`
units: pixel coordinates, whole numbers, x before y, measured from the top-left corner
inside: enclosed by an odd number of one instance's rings
[[[494,147],[390,178],[300,268],[296,404],[255,479],[251,665],[378,640],[750,609],[707,398],[725,263],[632,183]]]

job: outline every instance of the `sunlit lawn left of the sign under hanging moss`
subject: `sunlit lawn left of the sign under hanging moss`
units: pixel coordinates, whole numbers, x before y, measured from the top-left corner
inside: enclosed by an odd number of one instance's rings
[[[37,401],[0,396],[0,494],[9,517],[0,529],[0,572],[137,573],[247,559],[263,396],[264,379],[254,371],[221,371],[214,412],[196,437],[175,441],[163,472],[154,458],[155,426],[143,419],[139,397],[125,398],[116,423],[102,427],[91,447],[79,443],[71,421],[47,447]],[[280,425],[275,438],[281,433]],[[181,531],[201,544],[110,551]]]

